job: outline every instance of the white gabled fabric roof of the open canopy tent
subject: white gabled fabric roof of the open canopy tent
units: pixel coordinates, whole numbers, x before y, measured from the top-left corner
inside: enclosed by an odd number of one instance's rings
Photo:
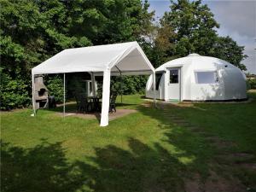
[[[152,73],[152,67],[143,49],[137,42],[98,45],[84,48],[65,49],[32,68],[32,74],[111,72],[125,74]]]

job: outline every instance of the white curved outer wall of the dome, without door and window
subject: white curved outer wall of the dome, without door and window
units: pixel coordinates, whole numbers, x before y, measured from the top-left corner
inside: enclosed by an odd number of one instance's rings
[[[241,70],[227,61],[207,56],[187,56],[160,66],[156,71],[166,71],[167,68],[181,67],[181,99],[190,101],[219,101],[247,98],[247,87]],[[197,84],[195,72],[215,71],[218,82],[213,84]],[[165,76],[160,80],[160,88],[156,91],[156,98],[165,100]],[[167,79],[168,81],[168,79]],[[150,75],[146,86],[146,96],[154,97],[152,86],[153,76]],[[166,82],[167,83],[167,82]],[[166,91],[166,94],[168,91]],[[172,98],[166,98],[169,100]]]

